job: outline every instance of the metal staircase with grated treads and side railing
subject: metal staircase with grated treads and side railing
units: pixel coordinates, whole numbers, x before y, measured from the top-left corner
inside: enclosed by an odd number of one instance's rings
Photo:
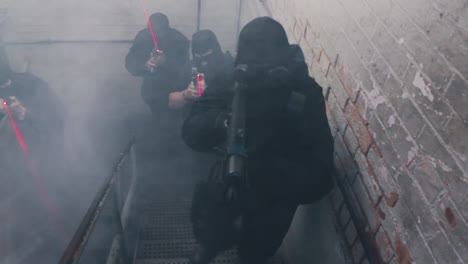
[[[188,264],[197,247],[189,216],[193,184],[181,184],[183,177],[179,184],[168,184],[168,177],[154,175],[164,171],[156,168],[144,170],[152,171],[151,175],[138,174],[138,152],[132,154],[134,149],[132,141],[97,194],[60,264]],[[155,166],[154,161],[147,164]],[[184,171],[189,170],[179,168],[180,173]],[[211,263],[240,264],[236,255],[230,250]],[[282,263],[280,257],[271,261]]]

